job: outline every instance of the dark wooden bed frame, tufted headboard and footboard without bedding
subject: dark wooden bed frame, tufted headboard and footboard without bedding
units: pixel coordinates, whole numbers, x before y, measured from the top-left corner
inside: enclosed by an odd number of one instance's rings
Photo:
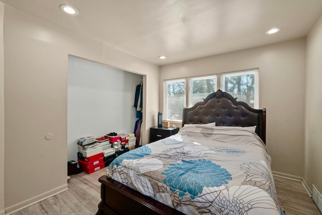
[[[182,126],[216,122],[216,126],[257,126],[256,133],[266,142],[266,109],[254,109],[218,90],[191,108],[183,109]],[[147,197],[106,175],[100,177],[101,202],[97,215],[113,214],[183,214]]]

